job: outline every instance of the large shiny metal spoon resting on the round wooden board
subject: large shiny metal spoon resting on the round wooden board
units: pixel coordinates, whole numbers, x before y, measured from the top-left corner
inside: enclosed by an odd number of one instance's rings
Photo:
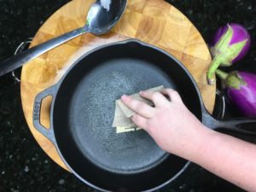
[[[86,24],[83,27],[75,29],[72,32],[67,32],[57,38],[53,38],[43,44],[27,49],[18,55],[0,62],[0,76],[21,67],[26,62],[32,61],[39,55],[42,55],[50,49],[54,49],[79,35],[87,32],[94,35],[107,33],[125,12],[126,4],[127,0],[96,0],[96,2],[90,6]]]

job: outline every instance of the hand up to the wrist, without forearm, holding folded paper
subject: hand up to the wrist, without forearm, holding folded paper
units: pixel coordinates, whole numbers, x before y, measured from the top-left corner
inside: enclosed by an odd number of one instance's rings
[[[185,107],[177,91],[141,91],[140,95],[154,102],[154,108],[131,96],[121,97],[122,102],[137,113],[132,117],[133,122],[147,131],[163,150],[191,160],[208,129]]]

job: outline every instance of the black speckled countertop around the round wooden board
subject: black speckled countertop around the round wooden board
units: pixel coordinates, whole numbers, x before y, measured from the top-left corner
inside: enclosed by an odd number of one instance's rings
[[[197,26],[209,42],[212,32],[227,22],[239,22],[252,35],[252,49],[231,69],[256,73],[256,8],[253,0],[169,0]],[[32,37],[45,20],[67,0],[0,0],[0,61],[13,55],[15,48]],[[90,189],[61,169],[32,137],[20,101],[20,84],[11,75],[0,78],[0,192],[79,192]],[[228,107],[227,115],[237,116]],[[248,138],[250,139],[250,138]],[[253,139],[251,139],[253,141]],[[191,165],[166,191],[243,191]]]

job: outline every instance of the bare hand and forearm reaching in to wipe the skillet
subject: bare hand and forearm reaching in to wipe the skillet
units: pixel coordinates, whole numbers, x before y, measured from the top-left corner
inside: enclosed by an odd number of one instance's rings
[[[170,97],[171,102],[163,95]],[[132,120],[148,131],[160,148],[191,160],[247,191],[256,191],[254,144],[206,128],[189,112],[175,90],[143,91],[141,96],[154,102],[155,107],[131,96],[122,96],[122,102],[137,113]]]

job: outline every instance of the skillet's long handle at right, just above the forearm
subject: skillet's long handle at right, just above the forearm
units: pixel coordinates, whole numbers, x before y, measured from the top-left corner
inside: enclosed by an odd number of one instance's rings
[[[204,113],[204,125],[212,130],[225,130],[242,133],[256,137],[256,119],[251,118],[236,118],[218,120],[214,119],[209,113]]]

